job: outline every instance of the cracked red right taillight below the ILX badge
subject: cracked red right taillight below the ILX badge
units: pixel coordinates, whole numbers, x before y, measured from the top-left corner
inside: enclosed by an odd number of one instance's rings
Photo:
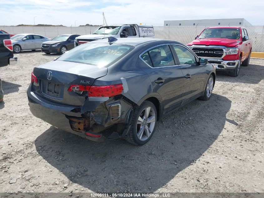
[[[71,85],[68,91],[74,91],[80,94],[82,94],[83,91],[88,91],[89,97],[112,97],[122,93],[123,84],[105,86]]]

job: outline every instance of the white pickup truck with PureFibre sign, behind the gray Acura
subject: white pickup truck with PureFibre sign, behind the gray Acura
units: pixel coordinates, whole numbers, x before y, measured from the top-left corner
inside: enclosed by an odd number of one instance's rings
[[[76,37],[74,40],[74,47],[107,37],[154,38],[154,29],[153,26],[137,24],[100,26],[92,34]]]

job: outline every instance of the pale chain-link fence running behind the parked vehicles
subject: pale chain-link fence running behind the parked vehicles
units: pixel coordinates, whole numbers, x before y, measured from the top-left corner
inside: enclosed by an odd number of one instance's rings
[[[60,34],[91,34],[98,27],[36,27],[36,26],[0,26],[0,29],[8,33],[35,33],[54,38]],[[154,26],[155,38],[179,41],[184,44],[190,43],[207,26]],[[248,26],[249,38],[252,38],[253,52],[264,52],[264,26]]]

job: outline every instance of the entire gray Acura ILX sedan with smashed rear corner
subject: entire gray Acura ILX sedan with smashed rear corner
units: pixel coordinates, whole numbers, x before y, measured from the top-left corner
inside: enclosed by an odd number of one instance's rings
[[[214,65],[182,43],[109,37],[35,67],[27,96],[32,114],[59,129],[144,145],[162,116],[209,100],[215,77]]]

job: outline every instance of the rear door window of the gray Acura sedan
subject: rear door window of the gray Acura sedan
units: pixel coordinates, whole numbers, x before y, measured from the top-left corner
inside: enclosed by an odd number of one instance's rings
[[[162,45],[148,51],[153,67],[175,65],[172,52],[168,45]]]

